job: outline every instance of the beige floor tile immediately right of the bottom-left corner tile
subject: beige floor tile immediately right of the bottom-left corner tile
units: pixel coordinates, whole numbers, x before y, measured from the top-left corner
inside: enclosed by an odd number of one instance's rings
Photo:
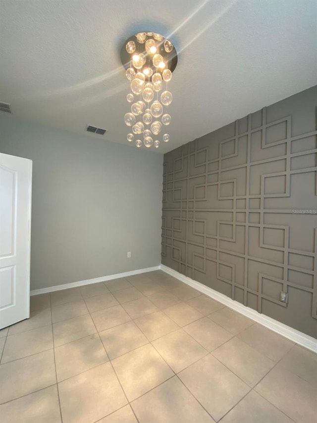
[[[127,404],[110,363],[58,383],[63,423],[93,423]]]

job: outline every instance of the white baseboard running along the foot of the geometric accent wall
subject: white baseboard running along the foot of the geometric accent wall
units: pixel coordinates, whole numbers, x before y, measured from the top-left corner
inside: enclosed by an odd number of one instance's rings
[[[317,353],[317,339],[313,338],[312,336],[306,335],[305,333],[293,329],[292,327],[287,326],[284,323],[272,319],[271,317],[265,316],[264,314],[261,314],[250,307],[246,307],[240,302],[234,301],[231,298],[207,287],[206,285],[194,281],[193,279],[188,278],[185,275],[182,275],[181,273],[165,266],[164,264],[160,265],[160,270],[165,273],[168,273],[176,279],[179,279],[185,284],[190,285],[191,287],[197,289],[198,291],[211,297],[212,299],[221,302],[222,304],[225,304],[227,307],[232,308],[233,310],[243,314],[244,316],[249,317],[249,319],[260,323],[261,325],[278,333],[279,335],[284,336],[285,338],[295,342],[296,344],[299,344],[307,348],[308,350]]]

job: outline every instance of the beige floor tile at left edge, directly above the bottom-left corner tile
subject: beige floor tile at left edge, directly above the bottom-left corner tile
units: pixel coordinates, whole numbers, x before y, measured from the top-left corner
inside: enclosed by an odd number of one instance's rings
[[[0,365],[0,404],[56,383],[53,350]]]

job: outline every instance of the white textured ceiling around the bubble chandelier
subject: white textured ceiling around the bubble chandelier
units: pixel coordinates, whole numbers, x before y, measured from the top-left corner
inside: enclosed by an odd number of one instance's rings
[[[86,124],[128,144],[119,52],[158,32],[178,53],[165,153],[316,85],[316,24],[316,0],[1,0],[0,101],[92,143]]]

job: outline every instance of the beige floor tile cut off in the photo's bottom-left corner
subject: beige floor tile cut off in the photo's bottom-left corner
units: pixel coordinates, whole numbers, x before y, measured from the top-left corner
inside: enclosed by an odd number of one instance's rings
[[[60,423],[57,386],[0,405],[0,416],[3,423]]]

